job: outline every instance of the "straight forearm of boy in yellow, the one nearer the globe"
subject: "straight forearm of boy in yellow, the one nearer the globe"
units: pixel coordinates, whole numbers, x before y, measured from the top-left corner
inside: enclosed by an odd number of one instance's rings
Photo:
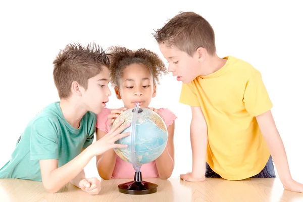
[[[205,176],[205,162],[207,149],[206,124],[193,123],[190,126],[190,142],[192,150],[192,175],[194,177]]]

